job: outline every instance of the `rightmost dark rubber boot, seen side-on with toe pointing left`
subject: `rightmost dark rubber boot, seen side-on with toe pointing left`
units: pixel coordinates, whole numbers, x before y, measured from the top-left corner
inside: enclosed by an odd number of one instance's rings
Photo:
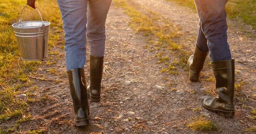
[[[234,59],[212,62],[212,68],[218,96],[205,98],[203,106],[208,110],[224,114],[225,117],[233,117],[235,114],[233,102],[235,87]]]

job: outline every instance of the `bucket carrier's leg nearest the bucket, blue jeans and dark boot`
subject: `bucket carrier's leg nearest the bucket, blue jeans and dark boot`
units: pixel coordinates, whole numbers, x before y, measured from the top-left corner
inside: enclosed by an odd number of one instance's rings
[[[66,66],[75,123],[84,126],[90,123],[84,77],[87,0],[58,0],[58,6],[65,31]]]

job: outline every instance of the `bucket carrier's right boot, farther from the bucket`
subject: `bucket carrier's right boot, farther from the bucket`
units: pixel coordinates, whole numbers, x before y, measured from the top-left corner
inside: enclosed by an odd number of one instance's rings
[[[89,93],[92,101],[100,101],[103,61],[104,56],[90,55],[90,85],[87,87],[87,93]]]

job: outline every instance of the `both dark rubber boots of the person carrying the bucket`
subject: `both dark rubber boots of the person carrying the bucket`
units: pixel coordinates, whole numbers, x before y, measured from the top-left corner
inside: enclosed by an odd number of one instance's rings
[[[90,94],[92,101],[100,101],[103,60],[104,57],[90,56],[90,86],[87,88],[83,68],[75,68],[67,71],[70,94],[75,111],[74,123],[76,126],[90,124],[87,94]]]

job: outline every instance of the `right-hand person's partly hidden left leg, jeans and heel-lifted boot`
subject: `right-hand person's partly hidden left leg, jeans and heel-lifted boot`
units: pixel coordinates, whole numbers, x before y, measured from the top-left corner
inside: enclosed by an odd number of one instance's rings
[[[200,72],[203,70],[204,61],[208,55],[208,51],[207,39],[202,31],[200,22],[194,54],[190,56],[188,60],[190,81],[197,82],[199,80]]]

